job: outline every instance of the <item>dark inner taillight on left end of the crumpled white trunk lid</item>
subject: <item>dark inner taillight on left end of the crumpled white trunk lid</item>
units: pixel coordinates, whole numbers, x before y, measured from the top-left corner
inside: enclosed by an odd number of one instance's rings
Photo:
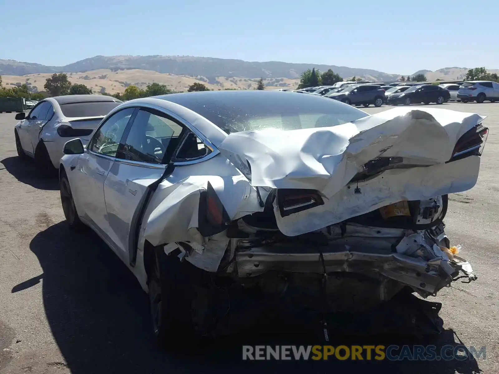
[[[278,189],[277,204],[282,217],[324,204],[315,189]]]

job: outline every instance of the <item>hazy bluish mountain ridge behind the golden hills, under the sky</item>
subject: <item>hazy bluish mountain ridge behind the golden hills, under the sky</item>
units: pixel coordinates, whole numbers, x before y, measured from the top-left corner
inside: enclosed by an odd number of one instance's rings
[[[98,69],[142,69],[175,75],[245,78],[299,78],[306,69],[326,71],[332,69],[343,78],[352,76],[369,80],[396,80],[399,74],[388,74],[373,69],[347,66],[289,63],[279,61],[250,62],[236,59],[193,56],[94,56],[65,66],[45,66],[37,63],[0,59],[0,74],[26,75],[33,73],[77,73]]]

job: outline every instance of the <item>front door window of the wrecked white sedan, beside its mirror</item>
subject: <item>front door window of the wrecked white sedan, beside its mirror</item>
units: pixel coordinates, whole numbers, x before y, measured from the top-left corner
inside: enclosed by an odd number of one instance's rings
[[[126,108],[114,113],[95,132],[90,142],[90,151],[115,157],[121,137],[135,108]]]

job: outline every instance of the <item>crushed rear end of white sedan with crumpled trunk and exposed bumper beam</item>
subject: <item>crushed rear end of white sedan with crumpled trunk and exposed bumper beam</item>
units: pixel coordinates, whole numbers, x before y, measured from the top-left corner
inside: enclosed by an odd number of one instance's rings
[[[219,150],[240,175],[187,179],[173,197],[160,188],[144,238],[224,292],[320,314],[435,296],[476,279],[444,218],[448,195],[477,182],[484,119],[395,108],[335,127],[230,134]],[[172,206],[192,207],[183,232]]]

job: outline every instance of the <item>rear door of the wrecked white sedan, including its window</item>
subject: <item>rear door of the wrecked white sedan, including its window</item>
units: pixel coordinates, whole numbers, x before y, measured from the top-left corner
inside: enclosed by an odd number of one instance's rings
[[[140,108],[129,124],[124,141],[104,182],[109,236],[118,256],[135,264],[134,229],[141,217],[150,186],[166,173],[171,155],[187,130],[163,112]]]

